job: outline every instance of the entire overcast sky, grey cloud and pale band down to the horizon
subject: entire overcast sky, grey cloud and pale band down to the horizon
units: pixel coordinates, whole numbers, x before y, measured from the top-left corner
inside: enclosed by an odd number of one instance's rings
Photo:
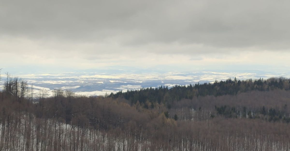
[[[0,68],[289,70],[289,5],[289,0],[0,0]]]

